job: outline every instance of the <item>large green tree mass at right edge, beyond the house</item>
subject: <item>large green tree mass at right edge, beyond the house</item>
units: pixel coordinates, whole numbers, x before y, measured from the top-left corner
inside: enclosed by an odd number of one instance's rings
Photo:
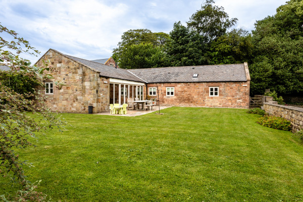
[[[303,2],[291,0],[274,16],[257,21],[252,31],[254,59],[251,92],[303,92]]]

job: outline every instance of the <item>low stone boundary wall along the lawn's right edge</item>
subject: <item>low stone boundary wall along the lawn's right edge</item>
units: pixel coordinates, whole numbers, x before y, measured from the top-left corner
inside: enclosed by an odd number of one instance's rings
[[[264,103],[264,110],[269,115],[289,120],[292,125],[292,131],[303,128],[303,108],[278,105],[277,102],[269,102]]]

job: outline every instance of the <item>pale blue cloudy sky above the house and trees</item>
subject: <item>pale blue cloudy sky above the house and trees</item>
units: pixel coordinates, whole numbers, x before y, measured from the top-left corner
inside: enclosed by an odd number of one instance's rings
[[[87,59],[112,55],[123,32],[146,28],[169,33],[200,9],[194,0],[0,0],[0,22],[27,39],[43,55],[49,48]],[[285,0],[217,0],[236,27],[254,29],[256,20],[274,15]],[[3,33],[0,33],[3,35]],[[41,56],[40,55],[40,56]],[[31,62],[38,58],[24,56]]]

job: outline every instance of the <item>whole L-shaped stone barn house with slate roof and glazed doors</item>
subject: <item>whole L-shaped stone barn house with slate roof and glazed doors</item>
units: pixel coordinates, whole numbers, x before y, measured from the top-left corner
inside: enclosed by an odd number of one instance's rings
[[[249,108],[250,76],[247,63],[120,69],[49,49],[37,62],[49,60],[52,80],[44,80],[45,103],[53,111],[93,113],[109,111],[128,98],[160,98],[162,106]],[[65,81],[57,89],[55,81]]]

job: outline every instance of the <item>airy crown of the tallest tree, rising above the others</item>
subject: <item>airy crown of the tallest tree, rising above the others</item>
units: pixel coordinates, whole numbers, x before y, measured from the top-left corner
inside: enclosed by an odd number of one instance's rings
[[[208,42],[226,33],[227,29],[236,24],[237,18],[229,19],[223,7],[213,6],[213,0],[206,0],[201,9],[192,14],[187,27],[204,36]]]

